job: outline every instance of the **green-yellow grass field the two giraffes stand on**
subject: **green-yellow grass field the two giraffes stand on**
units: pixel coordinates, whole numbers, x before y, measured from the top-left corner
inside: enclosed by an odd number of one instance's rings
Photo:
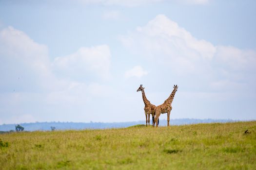
[[[1,134],[0,169],[256,170],[256,121]]]

